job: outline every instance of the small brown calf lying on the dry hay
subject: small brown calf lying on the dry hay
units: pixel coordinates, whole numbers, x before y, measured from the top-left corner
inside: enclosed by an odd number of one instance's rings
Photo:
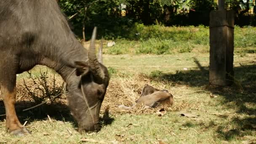
[[[133,109],[145,106],[145,108],[155,108],[159,105],[173,105],[173,95],[169,93],[167,90],[158,90],[150,85],[144,85],[141,91],[141,97],[135,101],[132,107],[126,107],[125,105],[119,105],[118,107],[123,109]]]

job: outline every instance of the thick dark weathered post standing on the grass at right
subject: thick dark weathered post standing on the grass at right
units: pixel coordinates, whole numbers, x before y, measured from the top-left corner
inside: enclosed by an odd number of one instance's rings
[[[224,0],[219,0],[219,11],[210,13],[209,83],[213,85],[231,85],[234,76],[235,13],[225,11],[224,6]]]

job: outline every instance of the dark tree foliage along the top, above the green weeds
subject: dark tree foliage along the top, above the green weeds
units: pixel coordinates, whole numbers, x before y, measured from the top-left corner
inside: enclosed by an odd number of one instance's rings
[[[217,0],[59,0],[61,10],[72,17],[73,31],[82,37],[85,18],[85,40],[89,40],[93,27],[98,37],[107,40],[134,36],[143,26],[199,26],[209,24],[209,13],[217,9]],[[248,3],[247,3],[248,2]],[[85,7],[87,7],[85,16]],[[250,0],[226,0],[226,8],[236,12],[235,24],[256,25],[255,14],[248,8],[255,6]],[[256,12],[256,8],[254,8]],[[122,12],[125,15],[122,15]],[[141,25],[139,25],[141,24]],[[153,27],[153,26],[152,26]],[[151,27],[149,27],[151,28]],[[138,38],[139,37],[139,38]],[[144,37],[147,37],[145,35]]]

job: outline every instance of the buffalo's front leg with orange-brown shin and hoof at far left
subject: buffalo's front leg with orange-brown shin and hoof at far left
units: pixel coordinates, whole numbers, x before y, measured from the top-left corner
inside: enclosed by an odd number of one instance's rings
[[[21,125],[16,115],[14,107],[16,99],[16,75],[10,76],[9,73],[6,77],[1,77],[0,79],[1,96],[5,105],[6,127],[11,134],[22,136],[30,132]]]

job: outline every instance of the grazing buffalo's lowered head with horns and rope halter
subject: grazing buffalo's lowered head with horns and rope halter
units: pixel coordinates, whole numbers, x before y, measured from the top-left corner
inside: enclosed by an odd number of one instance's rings
[[[109,84],[107,67],[102,63],[102,42],[98,59],[95,55],[96,28],[93,29],[88,61],[75,61],[76,76],[69,78],[69,107],[79,131],[99,131],[99,111]]]

